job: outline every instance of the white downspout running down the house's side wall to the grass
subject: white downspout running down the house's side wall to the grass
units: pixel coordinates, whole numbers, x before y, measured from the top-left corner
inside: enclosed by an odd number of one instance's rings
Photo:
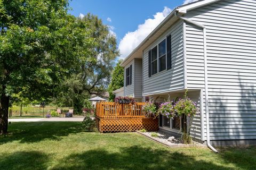
[[[213,150],[214,152],[218,153],[218,151],[211,145],[210,143],[210,125],[209,125],[209,103],[208,103],[208,79],[207,79],[207,52],[206,52],[206,28],[204,25],[199,24],[195,21],[189,20],[187,18],[184,18],[182,16],[178,15],[178,12],[175,12],[175,16],[180,18],[183,21],[186,21],[188,23],[194,24],[197,27],[203,28],[203,37],[204,37],[204,79],[205,79],[205,114],[206,114],[206,143],[207,146]],[[185,35],[183,35],[185,36]]]

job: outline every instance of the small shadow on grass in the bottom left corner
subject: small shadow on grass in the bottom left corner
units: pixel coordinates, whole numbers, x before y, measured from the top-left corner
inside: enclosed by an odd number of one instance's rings
[[[47,169],[49,157],[38,151],[19,151],[0,155],[0,169]]]

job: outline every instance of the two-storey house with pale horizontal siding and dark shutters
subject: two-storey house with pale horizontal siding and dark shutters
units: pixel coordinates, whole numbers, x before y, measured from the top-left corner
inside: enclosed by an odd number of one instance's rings
[[[124,96],[188,97],[191,136],[212,145],[256,143],[256,1],[205,0],[175,8],[125,58]],[[159,116],[179,133],[180,120]]]

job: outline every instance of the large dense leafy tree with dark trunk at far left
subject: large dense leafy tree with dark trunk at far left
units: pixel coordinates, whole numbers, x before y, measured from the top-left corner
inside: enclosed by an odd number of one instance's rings
[[[81,63],[95,63],[88,24],[67,10],[68,0],[0,0],[0,134],[12,94],[49,98]]]

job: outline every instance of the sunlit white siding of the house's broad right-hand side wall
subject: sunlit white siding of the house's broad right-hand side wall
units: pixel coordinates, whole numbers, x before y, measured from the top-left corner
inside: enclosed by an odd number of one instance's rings
[[[206,27],[211,140],[256,139],[256,2],[220,1],[186,18]],[[204,88],[202,29],[186,31],[187,86]]]

